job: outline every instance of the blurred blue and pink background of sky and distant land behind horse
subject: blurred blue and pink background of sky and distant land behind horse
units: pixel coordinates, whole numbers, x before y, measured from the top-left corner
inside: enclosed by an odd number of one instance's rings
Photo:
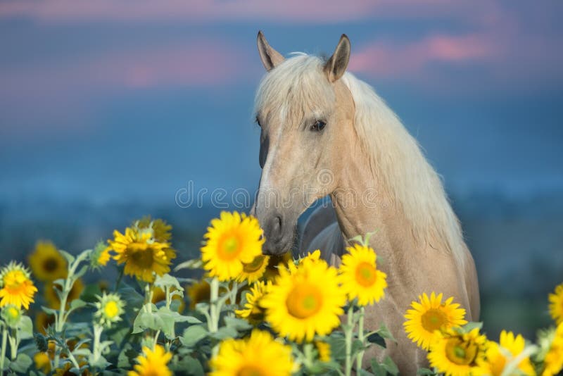
[[[38,239],[77,253],[142,215],[173,225],[180,260],[196,255],[210,218],[250,205],[233,192],[258,186],[258,30],[286,55],[331,54],[346,33],[349,70],[443,176],[486,331],[532,337],[563,282],[562,11],[557,0],[3,0],[0,261],[25,260]]]

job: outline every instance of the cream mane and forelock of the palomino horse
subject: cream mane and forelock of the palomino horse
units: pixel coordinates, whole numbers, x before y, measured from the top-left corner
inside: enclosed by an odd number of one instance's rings
[[[333,101],[334,90],[322,73],[323,65],[321,58],[305,54],[286,59],[260,82],[255,109],[267,104],[277,108],[282,118],[298,117],[314,110],[312,107],[320,100]],[[429,242],[432,235],[441,239],[444,248],[463,265],[460,223],[438,174],[424,158],[417,141],[372,87],[351,73],[341,80],[352,94],[354,125],[366,152],[372,156],[372,173],[403,209],[413,236],[419,242]]]

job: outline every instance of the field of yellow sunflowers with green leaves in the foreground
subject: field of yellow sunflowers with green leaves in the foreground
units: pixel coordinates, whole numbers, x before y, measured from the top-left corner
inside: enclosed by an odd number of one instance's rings
[[[201,257],[174,265],[171,230],[143,218],[82,253],[39,242],[28,266],[2,265],[0,373],[398,375],[391,358],[364,356],[394,340],[383,325],[364,327],[365,307],[387,287],[369,234],[334,268],[320,251],[264,256],[258,220],[222,212]],[[101,280],[103,268],[117,269],[115,281]],[[202,277],[175,276],[182,269]],[[419,375],[557,375],[563,284],[548,304],[554,325],[535,343],[507,331],[495,341],[453,297],[422,294],[404,317],[407,336],[428,351]]]

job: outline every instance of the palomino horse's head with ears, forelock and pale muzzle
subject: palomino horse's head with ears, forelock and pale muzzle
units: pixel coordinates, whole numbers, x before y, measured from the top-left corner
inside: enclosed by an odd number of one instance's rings
[[[262,168],[255,215],[264,252],[281,254],[291,249],[301,213],[336,188],[343,133],[353,123],[353,101],[339,81],[350,42],[343,36],[327,63],[310,56],[284,61],[260,32],[258,51],[268,73],[255,106]]]

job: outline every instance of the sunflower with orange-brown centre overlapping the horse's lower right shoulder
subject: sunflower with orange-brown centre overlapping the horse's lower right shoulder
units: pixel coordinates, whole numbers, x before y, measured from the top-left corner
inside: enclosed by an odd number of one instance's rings
[[[442,303],[443,294],[436,296],[434,292],[430,298],[426,293],[419,295],[418,301],[413,301],[407,310],[407,319],[403,326],[407,337],[424,350],[430,349],[431,344],[440,339],[437,330],[467,324],[464,320],[465,310],[459,304],[452,303],[453,297]]]

